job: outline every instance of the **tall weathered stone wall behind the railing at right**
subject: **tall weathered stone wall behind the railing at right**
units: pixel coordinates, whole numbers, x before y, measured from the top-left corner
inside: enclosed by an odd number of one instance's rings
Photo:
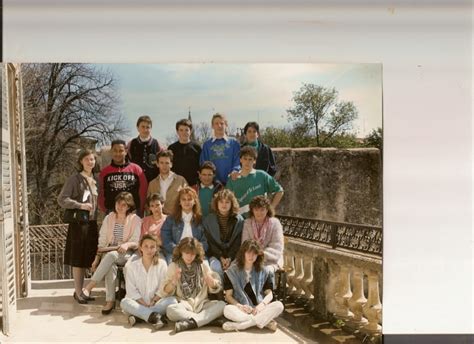
[[[277,213],[382,225],[382,162],[376,148],[275,148],[285,189]]]

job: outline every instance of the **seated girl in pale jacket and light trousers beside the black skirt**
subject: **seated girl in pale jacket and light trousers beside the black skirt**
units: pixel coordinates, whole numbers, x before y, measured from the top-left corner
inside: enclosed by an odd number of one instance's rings
[[[102,222],[99,233],[97,253],[104,253],[102,260],[99,255],[92,263],[95,270],[91,281],[83,289],[86,297],[90,297],[92,289],[105,278],[105,306],[102,314],[106,315],[115,308],[115,282],[117,265],[124,265],[138,247],[141,219],[134,214],[135,202],[129,192],[121,192],[115,197],[115,210],[109,213]],[[97,268],[97,269],[96,269]]]

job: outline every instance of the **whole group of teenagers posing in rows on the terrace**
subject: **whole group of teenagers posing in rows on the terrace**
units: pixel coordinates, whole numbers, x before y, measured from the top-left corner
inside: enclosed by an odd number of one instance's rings
[[[112,161],[98,178],[94,152],[79,152],[79,172],[58,198],[63,208],[88,213],[69,222],[64,254],[78,303],[95,300],[92,291],[105,280],[102,314],[110,314],[123,267],[120,306],[131,326],[158,329],[170,320],[175,332],[276,330],[283,304],[272,291],[284,241],[274,216],[283,196],[275,159],[256,122],[246,124],[242,146],[227,136],[225,115],[211,123],[213,136],[201,148],[191,140],[191,121],[178,121],[178,141],[164,149],[151,137],[150,117],[141,116],[138,137],[112,142]],[[100,230],[99,209],[106,214]]]

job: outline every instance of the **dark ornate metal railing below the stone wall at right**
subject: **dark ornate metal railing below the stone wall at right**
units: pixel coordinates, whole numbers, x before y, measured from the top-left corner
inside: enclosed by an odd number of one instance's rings
[[[286,236],[382,256],[382,227],[278,215]]]

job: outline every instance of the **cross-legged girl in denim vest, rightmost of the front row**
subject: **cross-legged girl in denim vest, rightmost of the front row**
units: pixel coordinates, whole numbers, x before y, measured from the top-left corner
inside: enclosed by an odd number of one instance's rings
[[[249,327],[277,328],[274,319],[283,312],[283,304],[273,299],[273,271],[263,266],[263,250],[256,240],[246,240],[237,258],[224,274],[224,290],[229,303],[224,316],[231,320],[222,325],[225,331]]]

